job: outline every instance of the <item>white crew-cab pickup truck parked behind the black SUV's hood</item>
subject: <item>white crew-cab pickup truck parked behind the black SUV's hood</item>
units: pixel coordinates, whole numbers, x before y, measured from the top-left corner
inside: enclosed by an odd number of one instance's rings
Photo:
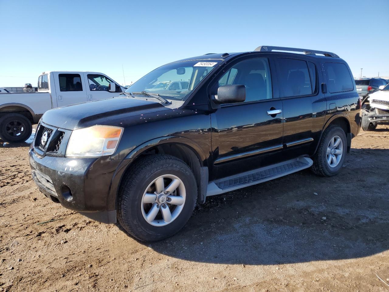
[[[116,97],[123,91],[117,82],[99,72],[43,72],[38,78],[38,92],[0,95],[0,139],[26,141],[32,124],[49,109]]]

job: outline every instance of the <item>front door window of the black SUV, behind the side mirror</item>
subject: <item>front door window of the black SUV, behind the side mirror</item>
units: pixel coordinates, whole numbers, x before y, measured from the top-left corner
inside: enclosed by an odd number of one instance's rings
[[[219,86],[231,84],[243,84],[246,87],[246,102],[271,99],[273,94],[268,59],[255,58],[235,64],[219,79]]]

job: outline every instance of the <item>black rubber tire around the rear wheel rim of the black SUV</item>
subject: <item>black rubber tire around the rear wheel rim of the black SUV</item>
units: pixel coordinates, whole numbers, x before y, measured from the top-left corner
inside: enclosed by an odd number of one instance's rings
[[[327,148],[330,140],[338,136],[342,140],[343,144],[343,153],[338,165],[335,167],[330,167],[327,162]],[[346,134],[343,129],[337,125],[331,125],[326,130],[321,137],[319,147],[317,148],[316,154],[313,158],[314,163],[311,167],[312,171],[319,176],[334,176],[338,174],[340,169],[342,169],[345,157],[347,152],[347,139]]]

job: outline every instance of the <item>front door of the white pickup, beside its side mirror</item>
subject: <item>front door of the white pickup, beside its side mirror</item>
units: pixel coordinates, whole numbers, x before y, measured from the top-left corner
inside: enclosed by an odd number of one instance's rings
[[[116,84],[116,91],[108,91],[110,82],[114,82],[103,74],[84,72],[87,100],[109,99],[117,97],[121,92],[120,85]]]

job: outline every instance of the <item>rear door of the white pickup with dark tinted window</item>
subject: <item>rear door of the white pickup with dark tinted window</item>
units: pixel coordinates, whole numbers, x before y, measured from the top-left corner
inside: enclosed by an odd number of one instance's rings
[[[86,101],[85,83],[82,73],[53,72],[57,105],[68,106]]]

